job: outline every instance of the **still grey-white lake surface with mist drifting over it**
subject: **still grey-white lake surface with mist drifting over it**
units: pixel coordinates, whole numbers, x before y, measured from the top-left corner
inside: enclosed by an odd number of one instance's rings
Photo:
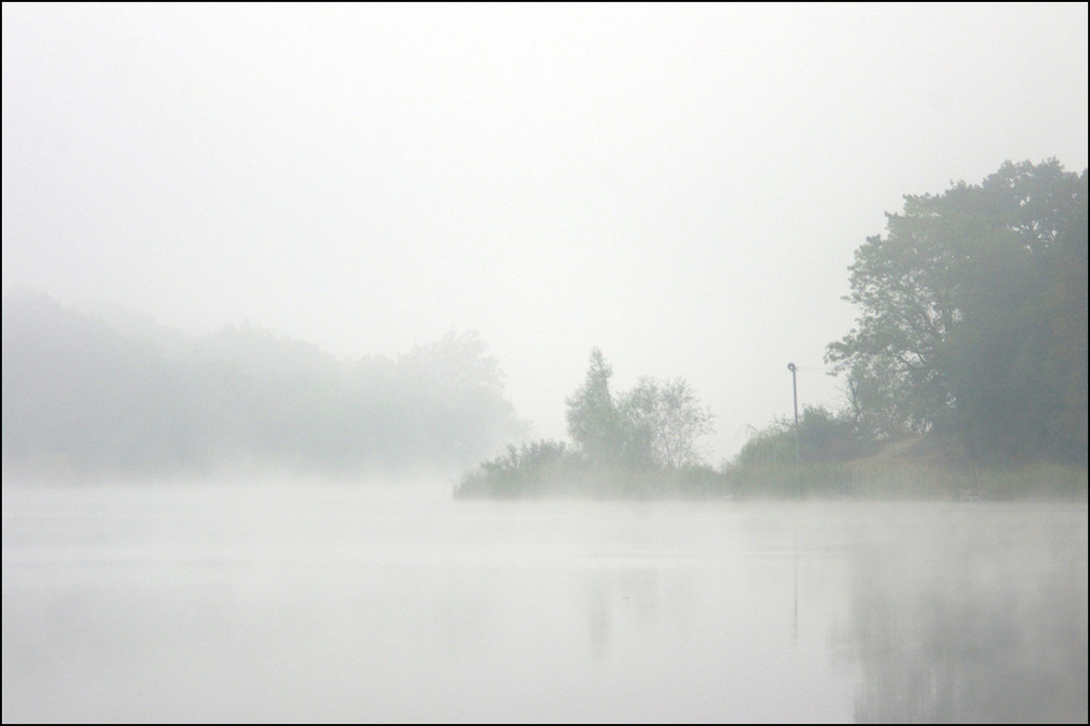
[[[3,491],[3,721],[1087,721],[1087,505]]]

